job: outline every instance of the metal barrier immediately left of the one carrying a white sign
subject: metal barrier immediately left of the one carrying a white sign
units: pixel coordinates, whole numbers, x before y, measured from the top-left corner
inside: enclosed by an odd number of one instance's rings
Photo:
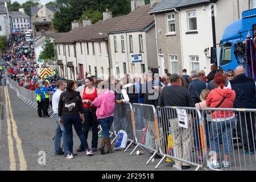
[[[134,135],[137,146],[133,152],[141,147],[150,152],[151,157],[147,161],[148,164],[159,151],[158,142],[158,123],[156,122],[156,111],[153,105],[133,104],[133,120],[134,120]]]

